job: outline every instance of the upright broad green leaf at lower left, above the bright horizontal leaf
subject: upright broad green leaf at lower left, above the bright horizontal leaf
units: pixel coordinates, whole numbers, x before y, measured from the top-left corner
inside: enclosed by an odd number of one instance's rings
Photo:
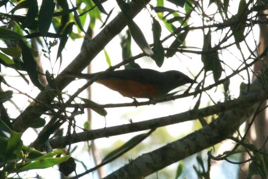
[[[22,133],[18,133],[15,131],[11,132],[10,138],[7,142],[7,146],[5,149],[5,160],[7,161],[12,154],[15,154],[17,157],[20,154],[20,150],[22,148],[22,140],[20,139]]]

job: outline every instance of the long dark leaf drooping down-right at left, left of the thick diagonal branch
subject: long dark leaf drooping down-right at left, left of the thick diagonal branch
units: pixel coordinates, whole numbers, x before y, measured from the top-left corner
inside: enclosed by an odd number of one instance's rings
[[[39,88],[40,90],[44,90],[44,86],[38,80],[38,74],[37,74],[37,70],[36,70],[37,65],[36,65],[36,61],[33,57],[31,50],[28,48],[28,46],[22,40],[19,40],[19,45],[21,48],[21,54],[22,54],[22,60],[24,62],[23,63],[24,68],[27,71],[27,73],[30,77],[30,80],[37,88]]]

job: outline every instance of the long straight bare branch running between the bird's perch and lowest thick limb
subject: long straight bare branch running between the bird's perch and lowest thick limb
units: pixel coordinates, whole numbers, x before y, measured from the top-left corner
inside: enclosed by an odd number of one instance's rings
[[[65,147],[66,145],[88,141],[93,139],[98,139],[102,137],[110,137],[114,135],[126,134],[130,132],[142,131],[146,129],[157,128],[161,126],[166,126],[170,124],[176,124],[180,122],[185,122],[189,120],[198,119],[200,117],[206,117],[209,115],[222,113],[237,107],[246,107],[255,103],[257,101],[261,101],[267,97],[266,92],[255,92],[248,94],[246,96],[241,96],[237,99],[224,102],[224,103],[217,103],[213,106],[205,107],[199,110],[189,110],[186,112],[182,112],[179,114],[174,114],[165,117],[154,118],[150,120],[145,120],[141,122],[134,122],[130,124],[124,124],[119,126],[107,127],[104,129],[95,129],[95,130],[88,130],[85,132],[73,134],[71,137],[61,137],[50,140],[50,144],[52,148],[61,148]],[[69,141],[69,139],[72,141]]]

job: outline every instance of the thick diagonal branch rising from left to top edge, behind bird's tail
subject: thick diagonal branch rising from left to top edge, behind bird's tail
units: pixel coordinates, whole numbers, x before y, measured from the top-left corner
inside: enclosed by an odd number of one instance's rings
[[[134,17],[150,0],[134,0],[130,3],[129,16]],[[123,13],[119,13],[103,30],[94,37],[91,41],[85,44],[85,48],[72,60],[72,62],[64,69],[66,71],[81,72],[95,56],[110,42],[123,28],[127,25],[127,17]],[[64,89],[73,78],[66,76],[58,76],[56,84],[60,90]],[[38,101],[50,103],[55,97],[54,93],[42,91],[36,97]],[[28,106],[23,113],[21,113],[12,126],[15,131],[23,132],[29,125],[40,117],[40,113],[45,112],[47,106],[41,106],[37,103]]]

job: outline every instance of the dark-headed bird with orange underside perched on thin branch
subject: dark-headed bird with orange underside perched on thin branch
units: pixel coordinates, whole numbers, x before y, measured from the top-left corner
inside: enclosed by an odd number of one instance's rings
[[[175,70],[159,72],[151,69],[125,69],[92,74],[67,72],[66,75],[87,80],[98,76],[97,83],[133,99],[153,99],[182,85],[196,83],[187,75]]]

